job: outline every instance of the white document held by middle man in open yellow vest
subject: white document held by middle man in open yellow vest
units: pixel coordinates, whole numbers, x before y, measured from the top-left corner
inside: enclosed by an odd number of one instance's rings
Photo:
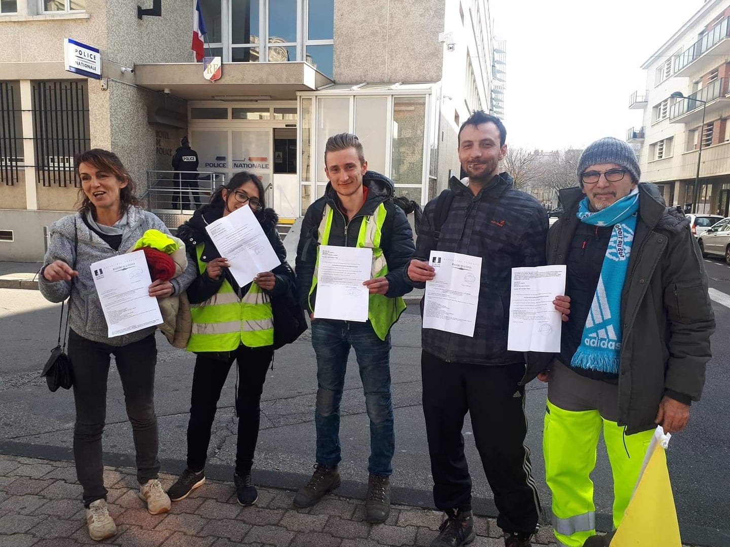
[[[315,319],[366,322],[372,249],[320,245]]]

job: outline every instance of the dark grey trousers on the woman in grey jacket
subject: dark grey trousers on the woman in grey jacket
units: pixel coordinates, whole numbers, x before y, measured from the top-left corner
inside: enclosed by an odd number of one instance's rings
[[[87,508],[91,502],[107,498],[104,463],[101,461],[101,434],[107,419],[107,378],[112,354],[122,381],[127,416],[132,424],[139,484],[158,478],[160,470],[154,402],[155,335],[150,334],[126,346],[110,346],[69,330],[69,358],[74,371],[76,405],[74,462]]]

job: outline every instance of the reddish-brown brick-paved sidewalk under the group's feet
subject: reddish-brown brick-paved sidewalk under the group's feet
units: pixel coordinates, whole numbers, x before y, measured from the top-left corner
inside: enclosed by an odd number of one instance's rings
[[[147,513],[129,468],[105,468],[107,500],[118,533],[104,545],[139,547],[377,547],[428,546],[442,516],[437,511],[394,505],[385,524],[364,522],[364,503],[328,496],[295,511],[293,492],[258,489],[254,507],[238,505],[233,485],[208,481],[163,515]],[[165,488],[174,481],[163,475]],[[86,531],[81,487],[73,462],[0,454],[0,547],[70,547],[94,544]],[[502,547],[494,519],[477,517],[474,547]],[[549,527],[535,546],[547,546]],[[549,545],[554,545],[550,543]]]

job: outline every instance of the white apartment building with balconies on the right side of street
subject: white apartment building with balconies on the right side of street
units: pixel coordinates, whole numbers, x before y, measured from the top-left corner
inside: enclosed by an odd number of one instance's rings
[[[643,126],[627,134],[641,144],[642,181],[659,185],[668,204],[728,216],[730,1],[705,1],[642,69],[647,89],[629,108],[643,110]]]

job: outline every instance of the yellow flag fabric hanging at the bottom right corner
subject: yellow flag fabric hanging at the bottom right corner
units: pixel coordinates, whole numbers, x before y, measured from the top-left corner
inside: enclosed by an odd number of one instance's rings
[[[658,435],[661,434],[655,435],[655,439]],[[661,442],[650,444],[647,459],[611,547],[682,547],[666,452]]]

